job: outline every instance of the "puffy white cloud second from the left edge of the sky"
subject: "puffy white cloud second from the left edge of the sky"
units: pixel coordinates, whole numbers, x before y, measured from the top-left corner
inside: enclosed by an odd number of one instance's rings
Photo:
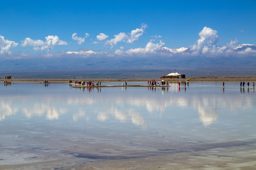
[[[57,35],[48,35],[45,37],[45,41],[42,40],[32,40],[30,38],[25,38],[24,40],[21,41],[21,46],[27,47],[27,46],[33,46],[34,50],[51,50],[53,49],[56,45],[67,45],[68,43],[65,41],[62,41],[59,39]]]

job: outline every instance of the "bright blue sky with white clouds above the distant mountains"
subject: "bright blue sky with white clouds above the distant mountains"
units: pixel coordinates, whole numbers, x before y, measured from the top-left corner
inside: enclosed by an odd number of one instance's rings
[[[0,23],[0,57],[89,50],[155,54],[159,47],[198,49],[199,39],[208,50],[227,51],[231,41],[232,48],[256,44],[256,0],[9,0],[1,2]],[[209,34],[200,36],[203,30]]]

